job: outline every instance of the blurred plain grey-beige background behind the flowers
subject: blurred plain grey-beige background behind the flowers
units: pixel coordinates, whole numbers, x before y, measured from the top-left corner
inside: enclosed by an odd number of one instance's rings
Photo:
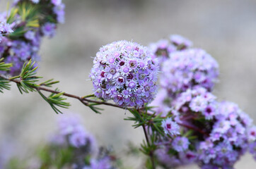
[[[170,1],[170,0],[64,0],[66,23],[59,25],[57,36],[44,39],[38,75],[60,80],[64,92],[84,96],[92,93],[88,74],[93,56],[107,43],[127,39],[148,45],[170,34],[179,34],[208,51],[220,65],[220,82],[214,94],[219,100],[234,101],[256,120],[256,1]],[[0,0],[0,11],[7,0]],[[93,113],[79,101],[65,113],[79,113],[87,130],[98,144],[112,145],[121,153],[130,141],[139,146],[144,135],[124,121],[125,111],[105,108]],[[58,115],[37,94],[11,91],[0,94],[0,160],[26,156],[42,144],[56,128]],[[132,168],[141,168],[130,161]],[[255,168],[247,154],[235,168]],[[186,168],[197,168],[196,166]]]

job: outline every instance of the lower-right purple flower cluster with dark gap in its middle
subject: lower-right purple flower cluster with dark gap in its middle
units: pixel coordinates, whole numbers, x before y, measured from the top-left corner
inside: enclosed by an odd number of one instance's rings
[[[169,134],[173,138],[171,140],[165,138],[169,140],[168,144],[161,140],[158,144],[164,146],[160,146],[156,156],[163,165],[178,166],[193,162],[199,163],[202,168],[233,168],[248,147],[256,156],[256,127],[252,126],[252,119],[236,104],[216,101],[216,96],[203,87],[187,89],[170,104],[173,106],[169,113],[173,114],[175,120],[163,120],[165,134],[178,131],[178,123],[183,126],[184,133],[189,132],[186,126],[194,128],[193,135],[197,139],[192,139],[190,144],[189,137],[177,136],[177,133],[176,137],[175,134]],[[188,145],[194,148],[189,149]],[[191,161],[185,156],[188,152]]]

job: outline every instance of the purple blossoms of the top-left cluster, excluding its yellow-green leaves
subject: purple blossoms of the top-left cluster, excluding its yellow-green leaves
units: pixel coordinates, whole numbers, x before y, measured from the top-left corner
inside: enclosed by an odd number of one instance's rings
[[[64,23],[64,4],[62,4],[62,0],[38,0],[32,1],[31,6],[38,7],[37,17],[40,20],[40,27],[24,27],[23,34],[11,36],[11,33],[14,30],[19,30],[23,27],[22,20],[19,15],[16,15],[13,23],[7,24],[2,20],[6,20],[6,13],[0,14],[0,32],[8,33],[6,37],[1,37],[0,41],[0,58],[4,57],[4,62],[13,63],[13,67],[8,72],[10,75],[18,75],[20,73],[23,63],[25,61],[40,61],[40,56],[38,55],[38,51],[40,49],[41,39],[42,37],[53,37],[55,35],[55,30],[57,28],[57,23]],[[22,3],[29,3],[29,1],[15,1],[14,8],[19,6]],[[47,8],[41,9],[42,4]],[[40,8],[39,8],[40,7]],[[40,10],[43,11],[43,15],[40,14]],[[47,13],[45,13],[47,11]],[[51,15],[52,19],[54,19],[54,23],[52,20],[47,20],[42,18],[42,16],[46,17],[46,15]],[[0,35],[1,35],[0,33]],[[34,65],[36,66],[36,65]],[[2,72],[4,73],[4,72]],[[5,73],[6,74],[6,73]]]

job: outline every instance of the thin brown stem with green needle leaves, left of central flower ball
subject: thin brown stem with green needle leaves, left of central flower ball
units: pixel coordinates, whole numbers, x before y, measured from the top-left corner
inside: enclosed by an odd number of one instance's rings
[[[0,73],[0,92],[2,89],[10,89],[9,82],[15,82],[21,94],[29,93],[29,92],[38,92],[42,98],[47,101],[48,104],[52,107],[52,109],[56,113],[62,113],[59,108],[69,108],[71,104],[64,101],[66,97],[71,97],[74,99],[78,99],[85,106],[91,108],[95,113],[100,113],[103,111],[103,108],[99,108],[100,105],[113,106],[117,108],[123,108],[122,106],[118,106],[115,104],[107,103],[106,101],[97,99],[94,94],[90,94],[87,96],[76,96],[74,94],[68,94],[66,92],[59,92],[59,90],[52,90],[53,84],[59,83],[59,81],[55,81],[53,79],[46,80],[45,82],[40,82],[39,80],[42,78],[36,75],[37,67],[34,66],[35,62],[31,60],[28,63],[24,63],[23,68],[21,70],[20,75],[15,77],[6,77],[5,75],[1,75]],[[11,68],[11,63],[4,63],[3,58],[0,60],[0,70],[7,71]],[[45,96],[42,91],[50,92],[50,96]]]

